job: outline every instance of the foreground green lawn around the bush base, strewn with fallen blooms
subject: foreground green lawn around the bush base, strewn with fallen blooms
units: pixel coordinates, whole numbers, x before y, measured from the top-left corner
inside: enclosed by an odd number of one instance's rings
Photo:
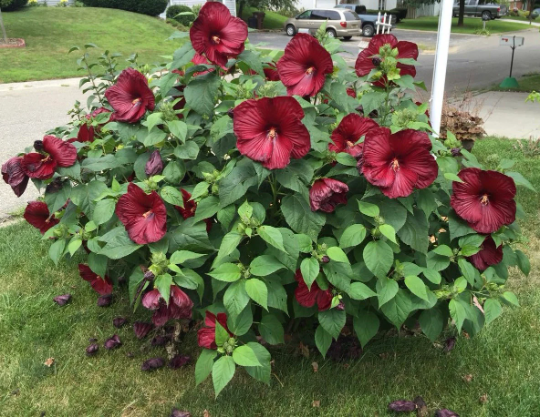
[[[474,153],[494,168],[494,153],[518,161],[522,172],[540,188],[540,157],[524,156],[515,141],[485,139]],[[166,416],[173,406],[193,416],[207,409],[219,416],[385,416],[387,404],[421,395],[433,415],[447,407],[461,416],[540,415],[540,257],[539,196],[519,190],[528,213],[523,225],[531,244],[532,272],[512,271],[509,285],[522,307],[505,314],[477,338],[458,340],[445,354],[424,337],[381,336],[353,362],[294,356],[292,348],[274,350],[271,386],[240,373],[214,400],[211,382],[195,388],[193,365],[143,373],[143,360],[164,355],[137,341],[127,326],[115,329],[116,315],[129,315],[125,299],[110,308],[96,306],[96,296],[76,271],[76,263],[55,267],[49,242],[35,229],[15,224],[0,230],[0,414],[6,416]],[[56,295],[70,292],[71,304],[59,307]],[[121,296],[118,296],[121,297]],[[144,312],[137,318],[141,318]],[[131,322],[134,318],[130,318]],[[124,345],[84,354],[88,338],[99,344],[118,333]],[[195,354],[194,334],[182,345]],[[126,356],[132,353],[134,357]],[[43,363],[54,357],[55,363]],[[319,370],[313,372],[312,362]],[[464,377],[472,375],[466,382]],[[487,394],[488,401],[480,397]],[[320,407],[313,407],[320,401]]]

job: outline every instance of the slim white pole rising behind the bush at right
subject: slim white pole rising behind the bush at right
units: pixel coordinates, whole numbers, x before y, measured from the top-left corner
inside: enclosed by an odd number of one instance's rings
[[[435,51],[435,67],[431,84],[431,126],[437,135],[441,133],[441,117],[444,103],[444,83],[448,65],[448,49],[450,48],[450,32],[452,30],[453,0],[442,0],[439,15],[439,32]]]

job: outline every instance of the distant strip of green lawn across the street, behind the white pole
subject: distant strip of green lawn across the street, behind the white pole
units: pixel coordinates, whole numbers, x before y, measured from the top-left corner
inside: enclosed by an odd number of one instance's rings
[[[457,26],[457,18],[452,19],[452,33],[468,33],[474,34],[476,30],[482,29],[482,19],[474,17],[466,17],[464,20],[465,26]],[[437,32],[439,27],[438,17],[420,17],[418,19],[404,19],[397,28],[398,29],[414,29],[414,30],[430,30]],[[486,28],[491,33],[514,32],[527,29],[522,23],[501,22],[500,20],[491,20],[487,23]]]

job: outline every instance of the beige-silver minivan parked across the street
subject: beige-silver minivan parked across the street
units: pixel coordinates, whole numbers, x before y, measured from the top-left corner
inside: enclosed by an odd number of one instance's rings
[[[335,38],[351,39],[362,34],[362,21],[352,10],[313,9],[287,19],[283,25],[285,33],[294,36],[300,29],[315,33],[326,22],[326,33]]]

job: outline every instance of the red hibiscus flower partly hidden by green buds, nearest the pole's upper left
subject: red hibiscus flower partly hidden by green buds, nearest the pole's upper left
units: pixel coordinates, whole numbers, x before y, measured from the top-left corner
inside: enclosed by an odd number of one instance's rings
[[[368,75],[371,70],[379,66],[380,59],[376,58],[375,55],[379,54],[379,50],[385,44],[389,44],[392,48],[397,48],[397,59],[418,58],[418,46],[415,43],[406,41],[398,42],[394,35],[376,35],[371,38],[368,47],[358,54],[358,58],[356,58],[356,64],[354,66],[356,69],[356,75],[363,77],[364,75]],[[416,68],[413,65],[398,63],[397,67],[400,70],[400,75],[411,75],[413,77],[416,75]],[[386,85],[386,79],[381,78],[374,84],[379,87],[384,87]]]

